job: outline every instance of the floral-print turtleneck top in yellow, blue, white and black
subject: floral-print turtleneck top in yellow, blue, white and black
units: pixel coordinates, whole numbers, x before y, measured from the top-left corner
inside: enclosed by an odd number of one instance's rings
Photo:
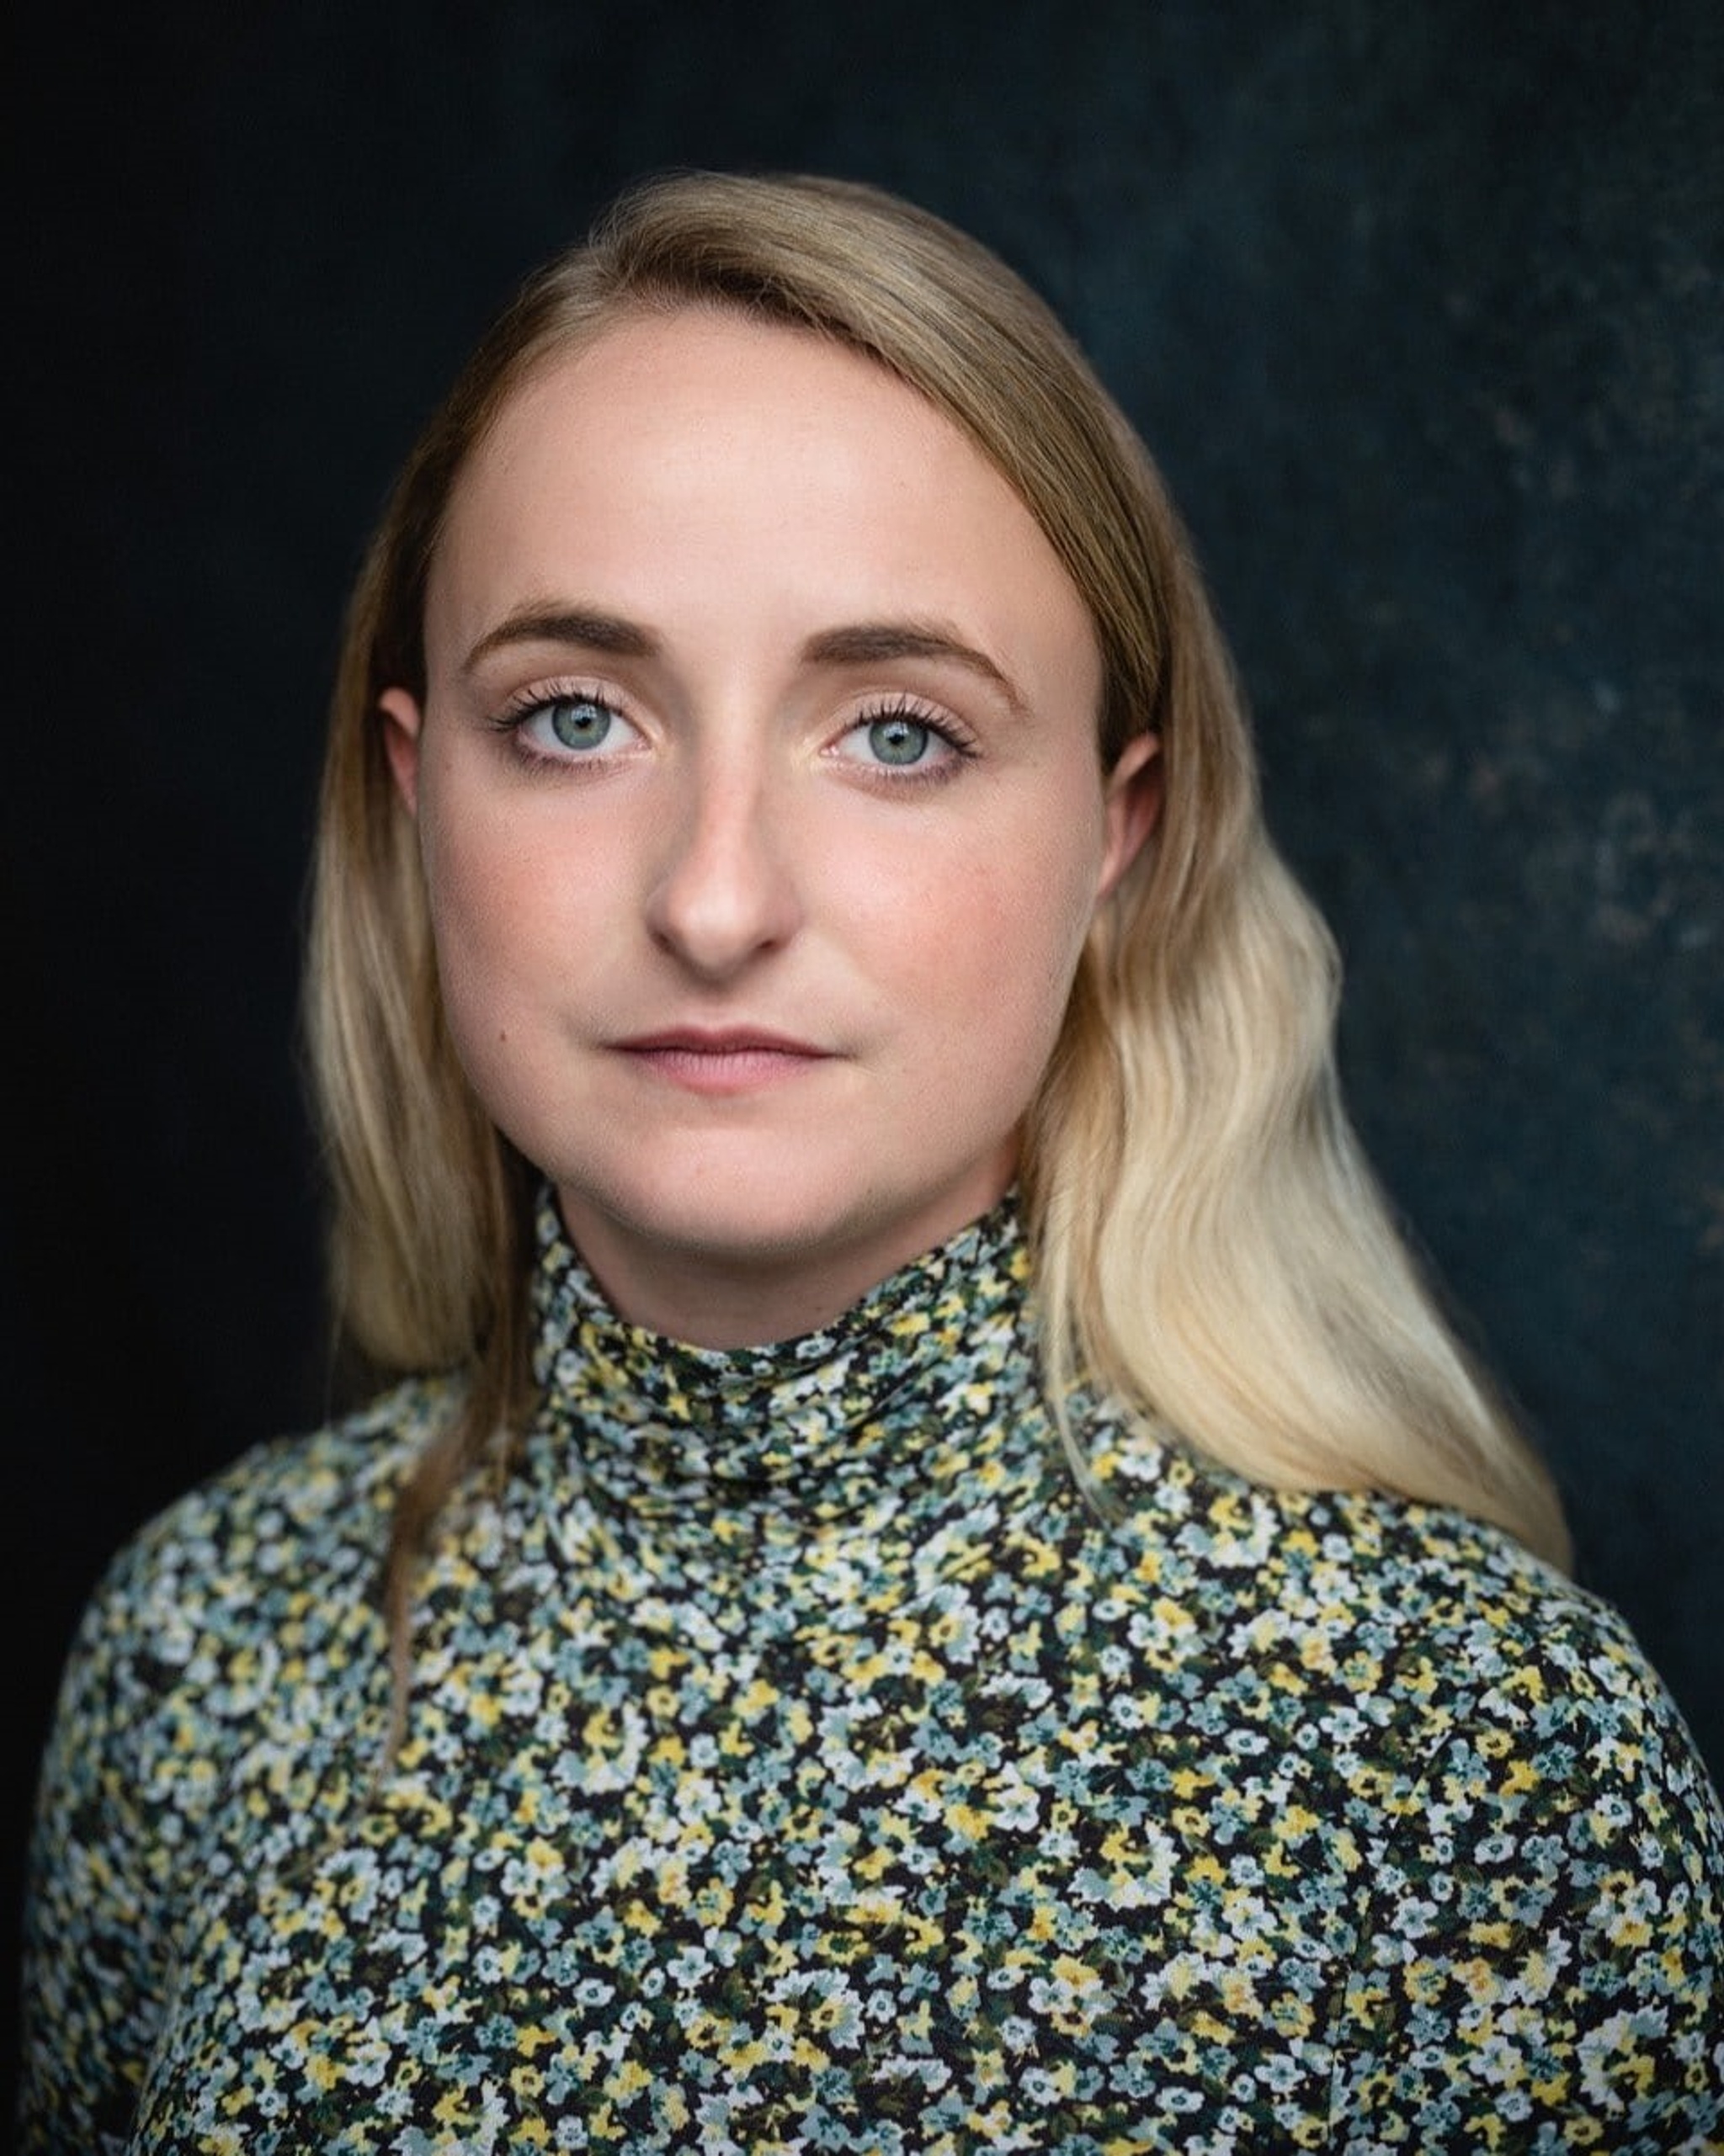
[[[114,1563],[28,1917],[24,2145],[1720,2145],[1718,1798],[1620,1619],[1472,1520],[1042,1404],[1012,1205],[826,1332],[621,1324],[542,1412],[250,1453]]]

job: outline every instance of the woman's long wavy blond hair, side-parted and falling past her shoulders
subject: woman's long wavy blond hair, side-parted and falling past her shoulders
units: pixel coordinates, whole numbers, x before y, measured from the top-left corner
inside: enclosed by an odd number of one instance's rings
[[[1264,832],[1243,701],[1131,425],[1049,308],[941,220],[831,179],[693,172],[628,192],[524,285],[412,451],[347,619],[306,994],[334,1309],[373,1365],[468,1376],[397,1511],[395,1617],[440,1505],[531,1412],[533,1177],[449,1041],[378,696],[425,692],[429,563],[509,397],[621,315],[684,306],[835,338],[962,427],[1090,608],[1103,765],[1161,737],[1161,824],[1096,923],[1023,1156],[1051,1397],[1081,1373],[1256,1481],[1456,1505],[1566,1561],[1551,1481],[1342,1112],[1333,944]]]

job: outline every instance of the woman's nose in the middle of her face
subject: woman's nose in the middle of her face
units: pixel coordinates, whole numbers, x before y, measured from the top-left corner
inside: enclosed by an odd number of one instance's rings
[[[803,908],[788,837],[764,772],[690,772],[647,895],[652,940],[708,981],[790,942]]]

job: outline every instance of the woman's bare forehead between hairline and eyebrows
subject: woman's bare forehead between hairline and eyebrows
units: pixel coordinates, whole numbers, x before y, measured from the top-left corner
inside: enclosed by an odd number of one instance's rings
[[[432,640],[529,589],[645,619],[727,595],[757,623],[772,602],[798,632],[954,614],[1085,668],[1094,647],[1036,517],[952,418],[848,345],[719,308],[626,315],[503,405],[451,502]]]

